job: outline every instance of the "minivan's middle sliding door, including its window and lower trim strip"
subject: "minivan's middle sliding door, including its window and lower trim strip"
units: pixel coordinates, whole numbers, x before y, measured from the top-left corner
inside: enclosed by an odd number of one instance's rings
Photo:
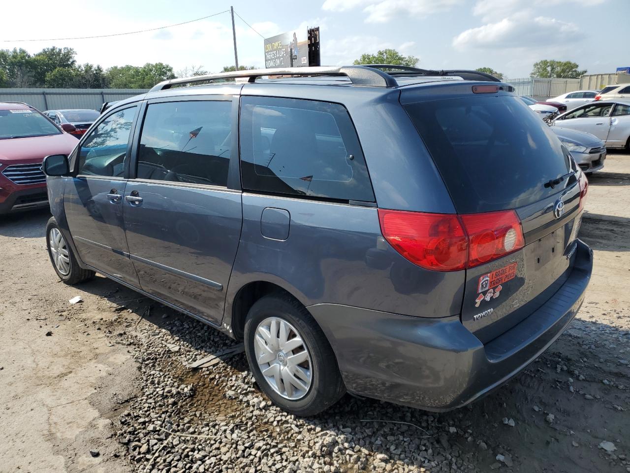
[[[241,233],[241,192],[228,189],[236,117],[231,96],[149,101],[123,202],[142,289],[215,324]]]

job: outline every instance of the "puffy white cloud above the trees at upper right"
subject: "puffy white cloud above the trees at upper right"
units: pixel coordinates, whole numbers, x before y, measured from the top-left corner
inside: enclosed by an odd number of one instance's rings
[[[453,38],[453,46],[471,49],[530,49],[543,45],[575,44],[580,28],[574,23],[527,13],[513,15],[495,23],[470,28]]]

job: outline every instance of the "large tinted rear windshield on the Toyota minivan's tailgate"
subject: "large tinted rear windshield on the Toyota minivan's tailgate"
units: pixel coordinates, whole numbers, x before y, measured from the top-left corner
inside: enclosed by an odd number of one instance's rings
[[[570,171],[558,137],[517,96],[411,103],[405,108],[459,213],[513,209],[556,190]]]

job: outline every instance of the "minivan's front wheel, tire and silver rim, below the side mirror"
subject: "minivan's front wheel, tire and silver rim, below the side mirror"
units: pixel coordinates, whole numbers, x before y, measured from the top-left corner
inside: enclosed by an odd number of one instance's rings
[[[79,266],[54,217],[51,217],[46,225],[46,248],[52,267],[64,283],[71,285],[83,283],[95,276],[94,271]]]

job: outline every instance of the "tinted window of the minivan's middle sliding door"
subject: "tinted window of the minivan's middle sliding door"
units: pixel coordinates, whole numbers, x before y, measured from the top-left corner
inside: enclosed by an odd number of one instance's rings
[[[136,177],[227,186],[231,109],[225,100],[150,103]]]

